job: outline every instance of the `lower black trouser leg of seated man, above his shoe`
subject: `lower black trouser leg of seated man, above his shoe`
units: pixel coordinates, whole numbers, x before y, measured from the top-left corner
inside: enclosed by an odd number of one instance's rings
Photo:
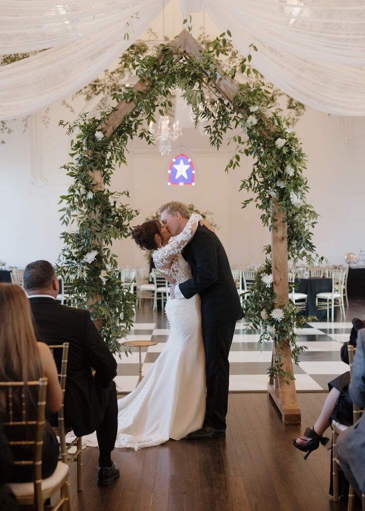
[[[115,383],[108,387],[109,400],[100,426],[96,429],[99,445],[99,467],[111,467],[111,452],[114,449],[118,428],[118,405]]]

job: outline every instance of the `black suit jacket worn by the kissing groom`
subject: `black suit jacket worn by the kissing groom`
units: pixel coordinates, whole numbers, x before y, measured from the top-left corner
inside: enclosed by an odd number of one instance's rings
[[[232,271],[218,237],[198,225],[182,255],[191,267],[192,278],[179,284],[179,289],[185,298],[200,294],[203,328],[241,319],[244,314]]]

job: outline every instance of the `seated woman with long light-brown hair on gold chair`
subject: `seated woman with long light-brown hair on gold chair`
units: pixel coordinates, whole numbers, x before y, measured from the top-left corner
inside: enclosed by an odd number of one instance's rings
[[[46,377],[47,394],[46,407],[52,412],[61,408],[62,390],[51,350],[43,342],[37,342],[29,300],[25,292],[17,285],[0,283],[0,380],[1,381],[35,381]],[[38,391],[37,391],[38,392]],[[5,413],[5,395],[0,394],[0,413]],[[30,413],[37,416],[36,403],[38,396],[28,390],[27,407]],[[21,402],[14,396],[14,419],[21,421]],[[16,420],[16,419],[15,419]],[[16,430],[7,430],[9,440],[15,440],[10,435]],[[29,448],[10,446],[15,460],[24,459]],[[59,455],[57,438],[50,424],[45,422],[42,448],[42,478],[50,477],[56,470]],[[33,452],[29,450],[30,459]],[[2,477],[4,477],[2,472]],[[27,482],[33,479],[31,465],[14,465],[13,473],[7,474],[7,481]]]

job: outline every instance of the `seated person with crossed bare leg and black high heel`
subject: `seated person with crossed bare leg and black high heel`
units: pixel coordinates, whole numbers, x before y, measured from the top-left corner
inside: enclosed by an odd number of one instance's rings
[[[348,344],[356,347],[357,332],[364,328],[363,321],[358,318],[352,320],[352,329],[350,340],[345,342],[341,348],[341,359],[349,363],[347,352]],[[322,411],[312,428],[307,428],[304,435],[293,440],[293,445],[303,452],[307,452],[305,459],[315,449],[319,448],[320,443],[326,445],[329,438],[323,437],[323,433],[331,425],[332,420],[346,426],[353,423],[352,400],[349,396],[350,371],[338,376],[328,383],[329,393],[324,402]],[[332,494],[332,489],[330,489]]]

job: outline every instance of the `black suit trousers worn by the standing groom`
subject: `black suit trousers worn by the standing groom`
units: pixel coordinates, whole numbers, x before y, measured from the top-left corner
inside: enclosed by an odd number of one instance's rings
[[[226,429],[228,409],[229,362],[236,322],[216,327],[203,327],[207,398],[204,424]]]

